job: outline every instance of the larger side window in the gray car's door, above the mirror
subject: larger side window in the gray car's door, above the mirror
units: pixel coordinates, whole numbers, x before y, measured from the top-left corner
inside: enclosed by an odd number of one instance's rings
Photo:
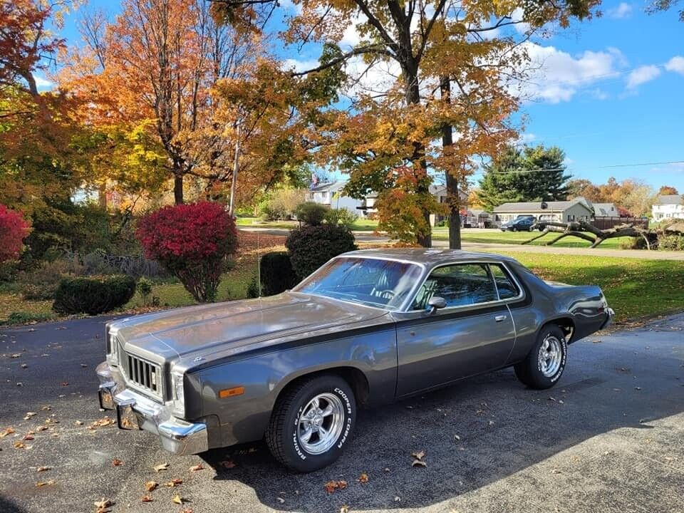
[[[454,264],[439,267],[427,276],[413,309],[427,308],[433,296],[444,298],[449,308],[497,301],[497,290],[486,264]]]

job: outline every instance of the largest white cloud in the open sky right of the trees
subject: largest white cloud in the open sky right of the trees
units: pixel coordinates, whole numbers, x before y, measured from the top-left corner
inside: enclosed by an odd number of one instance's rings
[[[617,76],[623,61],[616,48],[587,50],[578,56],[537,43],[524,43],[524,50],[532,60],[533,71],[522,85],[522,95],[549,103],[569,101],[579,88]]]

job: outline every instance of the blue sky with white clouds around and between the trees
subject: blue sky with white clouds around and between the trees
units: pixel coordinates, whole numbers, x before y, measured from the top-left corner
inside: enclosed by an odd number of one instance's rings
[[[90,4],[118,11],[113,0]],[[606,1],[601,18],[534,40],[530,53],[542,71],[534,78],[535,99],[520,112],[522,141],[561,147],[574,177],[635,177],[684,193],[684,23],[675,9],[647,15],[645,5]],[[77,17],[66,19],[69,43],[78,43]],[[346,41],[353,43],[352,29]],[[276,51],[294,66],[317,56],[316,48]]]

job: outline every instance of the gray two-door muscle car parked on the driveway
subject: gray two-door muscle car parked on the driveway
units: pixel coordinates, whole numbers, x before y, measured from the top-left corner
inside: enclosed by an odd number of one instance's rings
[[[265,438],[308,472],[339,457],[359,406],[507,366],[549,388],[568,344],[612,316],[597,286],[547,283],[507,257],[356,251],[277,296],[108,323],[100,405],[176,454]]]

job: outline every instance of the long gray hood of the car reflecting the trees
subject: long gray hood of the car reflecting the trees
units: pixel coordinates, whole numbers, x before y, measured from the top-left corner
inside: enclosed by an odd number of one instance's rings
[[[190,306],[113,323],[125,351],[157,361],[234,349],[264,340],[368,321],[387,312],[286,292],[277,296]]]

